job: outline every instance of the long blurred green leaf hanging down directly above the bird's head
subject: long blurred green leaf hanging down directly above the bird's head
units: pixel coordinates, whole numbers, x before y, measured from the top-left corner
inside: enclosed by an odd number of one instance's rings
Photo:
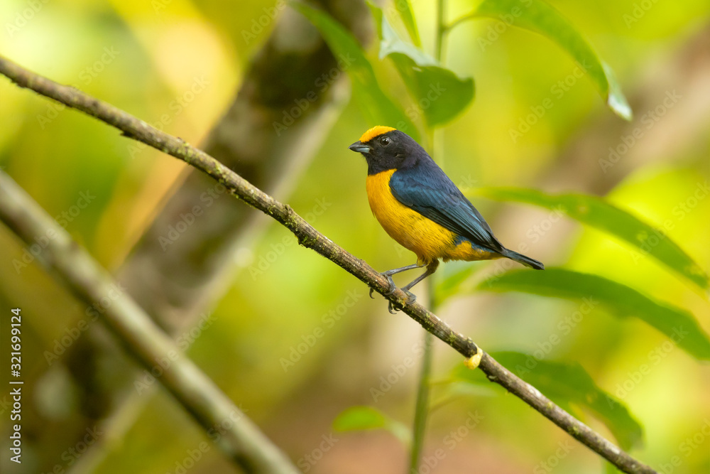
[[[373,125],[393,126],[419,141],[419,131],[402,109],[381,90],[375,71],[354,36],[322,10],[306,4],[290,4],[318,28],[324,41],[339,60],[339,67],[351,78],[358,103]]]

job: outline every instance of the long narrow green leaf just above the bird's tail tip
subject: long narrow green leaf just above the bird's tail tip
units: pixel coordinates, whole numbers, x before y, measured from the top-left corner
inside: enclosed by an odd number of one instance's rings
[[[574,220],[626,240],[640,254],[650,255],[692,281],[701,290],[707,291],[710,288],[707,274],[670,237],[606,200],[590,195],[550,195],[538,190],[515,188],[484,188],[476,190],[476,194],[564,212]]]

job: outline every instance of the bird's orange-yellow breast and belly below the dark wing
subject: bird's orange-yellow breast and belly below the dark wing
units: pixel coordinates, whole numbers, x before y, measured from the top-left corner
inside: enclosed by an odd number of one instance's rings
[[[390,237],[417,255],[419,264],[437,259],[487,260],[501,257],[493,252],[471,246],[463,240],[457,244],[457,234],[400,203],[390,190],[390,178],[396,170],[369,175],[367,198],[372,213]]]

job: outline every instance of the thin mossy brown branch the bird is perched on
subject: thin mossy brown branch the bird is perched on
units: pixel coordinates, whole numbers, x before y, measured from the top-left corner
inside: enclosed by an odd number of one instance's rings
[[[625,473],[656,473],[648,465],[640,463],[640,461],[629,456],[628,453],[621,451],[620,448],[603,438],[589,426],[586,426],[567,413],[567,411],[552,403],[535,387],[513,375],[512,372],[500,365],[496,360],[493,360],[493,357],[477,348],[471,338],[466,338],[464,335],[455,332],[449,325],[441,321],[435,314],[427,311],[420,304],[405,305],[408,296],[400,289],[395,290],[390,295],[386,295],[389,285],[384,276],[366,262],[349,254],[342,247],[334,244],[330,239],[315,230],[312,225],[308,224],[300,215],[297,215],[288,205],[280,203],[256,188],[249,181],[246,181],[222,165],[222,163],[204,153],[204,151],[195,149],[185,143],[185,141],[155,129],[153,126],[146,124],[146,122],[136,119],[136,117],[111,104],[102,102],[72,87],[53,82],[1,56],[0,73],[9,77],[20,87],[27,87],[40,95],[50,97],[62,102],[62,104],[96,117],[102,122],[115,126],[125,136],[153,146],[155,149],[175,156],[175,158],[179,158],[185,163],[204,171],[204,173],[224,184],[236,198],[270,215],[288,228],[297,237],[302,246],[315,250],[323,257],[341,266],[396,305],[404,306],[404,313],[408,314],[444,343],[454,348],[454,350],[457,350],[466,359],[471,359],[474,356],[481,357],[479,368],[491,382],[496,382],[505,387],[508,392],[515,394],[516,397],[532,406],[532,408],[539,411],[547,419],[564,429],[564,431],[567,431],[585,446],[588,446],[610,463],[616,465],[618,469],[623,470]]]

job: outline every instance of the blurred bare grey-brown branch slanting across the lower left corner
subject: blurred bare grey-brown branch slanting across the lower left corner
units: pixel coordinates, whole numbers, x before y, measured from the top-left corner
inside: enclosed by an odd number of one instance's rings
[[[12,178],[0,171],[0,220],[29,245],[43,237],[38,258],[89,305],[102,306],[102,321],[124,348],[173,394],[208,433],[224,433],[219,448],[248,473],[295,474],[298,470],[229,397],[182,354],[89,253],[72,240]],[[150,383],[148,377],[148,382]],[[229,428],[228,428],[229,426]]]

